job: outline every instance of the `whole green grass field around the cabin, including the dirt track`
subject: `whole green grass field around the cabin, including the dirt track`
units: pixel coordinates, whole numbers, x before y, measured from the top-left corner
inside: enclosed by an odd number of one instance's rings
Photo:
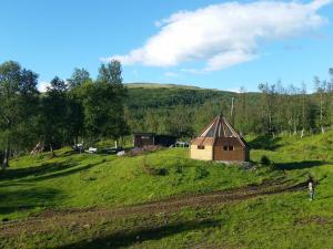
[[[251,170],[192,160],[180,148],[138,157],[63,148],[54,158],[13,159],[0,176],[0,247],[333,248],[333,132],[249,141]],[[271,166],[259,164],[263,155]],[[309,174],[313,201],[306,189],[249,194]],[[249,198],[224,201],[231,189]]]

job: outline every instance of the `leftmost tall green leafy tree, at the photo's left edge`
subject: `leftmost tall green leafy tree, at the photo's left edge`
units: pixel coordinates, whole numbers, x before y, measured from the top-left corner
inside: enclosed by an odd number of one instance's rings
[[[31,122],[38,106],[38,75],[13,61],[0,65],[0,147],[3,148],[1,167],[9,166],[13,147],[29,146]],[[31,137],[31,136],[30,136]]]

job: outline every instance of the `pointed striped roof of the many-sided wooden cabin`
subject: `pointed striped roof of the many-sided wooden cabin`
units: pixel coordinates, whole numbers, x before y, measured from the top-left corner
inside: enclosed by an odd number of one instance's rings
[[[201,132],[199,137],[201,138],[201,143],[203,143],[205,138],[215,141],[220,137],[234,137],[241,143],[242,146],[246,146],[245,142],[223,115],[216,116],[213,122]]]

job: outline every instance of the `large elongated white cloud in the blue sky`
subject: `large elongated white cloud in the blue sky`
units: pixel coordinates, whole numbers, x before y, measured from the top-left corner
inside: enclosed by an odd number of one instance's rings
[[[201,71],[222,70],[258,58],[263,40],[289,39],[317,29],[326,21],[317,10],[331,2],[229,2],[181,11],[157,21],[159,33],[142,48],[102,60],[149,66],[203,61],[205,66]]]

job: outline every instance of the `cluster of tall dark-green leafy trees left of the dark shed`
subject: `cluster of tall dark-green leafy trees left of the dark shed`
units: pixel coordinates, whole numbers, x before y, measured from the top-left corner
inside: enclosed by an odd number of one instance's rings
[[[94,143],[128,135],[121,73],[118,61],[102,64],[94,81],[87,70],[75,69],[70,79],[56,76],[40,93],[37,73],[13,61],[0,64],[1,167],[38,142],[53,153],[82,137]]]

